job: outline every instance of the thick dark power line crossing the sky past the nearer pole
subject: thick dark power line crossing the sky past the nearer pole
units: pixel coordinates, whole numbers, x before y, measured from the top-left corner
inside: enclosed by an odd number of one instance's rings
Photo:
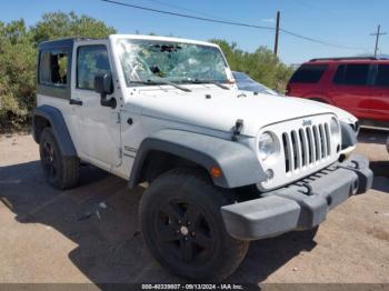
[[[134,8],[134,9],[143,10],[143,11],[150,11],[150,12],[168,14],[168,16],[174,16],[174,17],[181,17],[181,18],[196,19],[196,20],[208,21],[208,22],[213,22],[213,23],[221,23],[221,24],[237,26],[237,27],[247,27],[247,28],[262,29],[262,30],[275,30],[273,27],[265,27],[265,26],[257,26],[257,24],[238,22],[238,21],[227,21],[227,20],[218,20],[218,19],[212,19],[212,18],[197,17],[197,16],[191,16],[191,14],[172,12],[172,11],[168,11],[168,10],[154,9],[154,8],[150,8],[150,7],[143,7],[143,6],[124,3],[124,2],[120,2],[120,1],[116,1],[116,0],[100,0],[100,1],[106,2],[106,3],[110,3],[110,4],[116,4],[116,6]],[[340,46],[340,44],[335,44],[335,43],[330,43],[330,42],[327,42],[327,41],[313,39],[313,38],[310,38],[310,37],[305,37],[302,34],[299,34],[299,33],[296,33],[296,32],[292,32],[290,30],[286,30],[286,29],[282,29],[282,28],[280,28],[279,30],[281,32],[286,33],[286,34],[290,34],[290,36],[296,37],[296,38],[303,39],[303,40],[307,40],[307,41],[310,41],[310,42],[320,43],[320,44],[323,44],[323,46],[329,46],[329,47],[339,48],[339,49],[366,50],[366,48],[361,48],[361,47]]]

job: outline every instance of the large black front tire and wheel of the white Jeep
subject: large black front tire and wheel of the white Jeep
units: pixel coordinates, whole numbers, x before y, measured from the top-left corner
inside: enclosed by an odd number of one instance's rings
[[[230,203],[232,193],[215,187],[197,170],[166,172],[150,184],[140,202],[143,240],[172,273],[221,281],[239,267],[249,248],[248,241],[233,239],[226,231],[220,207]]]

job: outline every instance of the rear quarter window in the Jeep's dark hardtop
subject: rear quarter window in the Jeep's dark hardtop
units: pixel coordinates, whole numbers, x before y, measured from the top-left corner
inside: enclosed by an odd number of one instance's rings
[[[66,86],[68,77],[68,54],[63,51],[41,51],[39,61],[39,83]]]

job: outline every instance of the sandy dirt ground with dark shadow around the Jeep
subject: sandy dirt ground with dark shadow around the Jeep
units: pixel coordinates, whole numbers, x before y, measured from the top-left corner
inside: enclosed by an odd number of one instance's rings
[[[227,282],[389,283],[387,133],[362,131],[372,190],[331,211],[315,241],[293,232],[251,243]],[[76,189],[43,179],[29,134],[0,136],[0,282],[183,282],[146,249],[138,225],[142,188],[83,167]]]

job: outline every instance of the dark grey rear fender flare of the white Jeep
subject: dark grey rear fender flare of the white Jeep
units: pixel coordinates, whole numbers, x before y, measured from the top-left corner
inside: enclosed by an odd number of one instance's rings
[[[70,137],[67,123],[64,122],[62,112],[51,106],[40,106],[33,110],[32,118],[32,132],[33,139],[39,143],[39,137],[37,131],[37,117],[46,119],[52,129],[58,146],[64,157],[77,157],[77,151],[73,141]]]

